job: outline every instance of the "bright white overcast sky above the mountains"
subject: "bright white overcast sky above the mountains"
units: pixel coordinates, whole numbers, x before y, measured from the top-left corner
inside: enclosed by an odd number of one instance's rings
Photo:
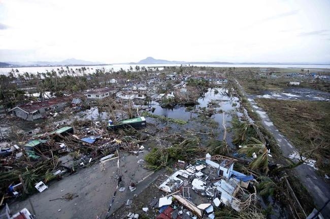
[[[330,63],[330,1],[0,0],[0,62]]]

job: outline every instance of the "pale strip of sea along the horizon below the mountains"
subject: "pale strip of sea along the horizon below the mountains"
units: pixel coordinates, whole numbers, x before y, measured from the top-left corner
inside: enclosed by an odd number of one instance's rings
[[[93,73],[96,69],[102,69],[105,68],[106,71],[110,71],[111,69],[113,71],[119,71],[121,68],[123,70],[128,70],[130,68],[130,66],[133,67],[133,69],[135,69],[136,65],[129,65],[129,64],[113,64],[113,65],[94,65],[94,66],[69,66],[69,69],[79,69],[81,67],[86,67],[89,68],[87,69],[86,73]],[[140,68],[141,67],[158,67],[159,70],[161,70],[164,66],[180,66],[180,64],[148,64],[148,65],[139,65]],[[185,65],[184,65],[185,66]],[[205,65],[205,64],[195,64],[193,66],[206,66],[206,67],[236,67],[236,68],[240,68],[240,67],[251,67],[251,68],[303,68],[303,69],[316,69],[316,68],[321,68],[321,69],[330,69],[330,65],[287,65],[287,64],[209,64],[209,65]],[[19,73],[37,73],[37,72],[46,72],[51,71],[52,69],[54,69],[56,71],[56,69],[60,69],[63,68],[64,70],[66,69],[66,67],[64,66],[47,66],[47,67],[9,67],[9,68],[0,68],[0,74],[5,74],[7,75],[9,72],[12,71],[12,69],[14,70],[18,70]]]

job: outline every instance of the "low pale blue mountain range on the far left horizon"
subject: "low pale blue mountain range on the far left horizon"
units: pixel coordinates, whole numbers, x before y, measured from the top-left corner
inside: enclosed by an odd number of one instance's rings
[[[80,59],[65,59],[59,62],[47,62],[47,61],[36,61],[36,62],[8,62],[9,66],[65,66],[65,65],[102,65],[101,62],[90,62]],[[1,65],[0,65],[1,66]]]

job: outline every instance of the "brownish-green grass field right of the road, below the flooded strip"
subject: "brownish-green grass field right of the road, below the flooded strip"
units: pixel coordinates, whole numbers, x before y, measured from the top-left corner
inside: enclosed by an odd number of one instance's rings
[[[318,148],[313,158],[330,173],[330,103],[256,99],[281,133],[301,152]]]

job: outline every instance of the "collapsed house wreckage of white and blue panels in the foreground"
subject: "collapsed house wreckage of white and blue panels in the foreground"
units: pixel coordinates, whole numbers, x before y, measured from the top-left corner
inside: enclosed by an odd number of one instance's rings
[[[213,205],[230,206],[240,211],[242,202],[238,194],[242,188],[248,188],[253,176],[235,171],[235,161],[231,158],[211,157],[210,154],[206,155],[205,160],[197,160],[195,164],[187,165],[179,161],[184,168],[174,172],[159,186],[159,189],[172,194],[181,191],[182,196],[176,194],[173,198],[200,218],[205,212],[209,218],[214,218]]]

